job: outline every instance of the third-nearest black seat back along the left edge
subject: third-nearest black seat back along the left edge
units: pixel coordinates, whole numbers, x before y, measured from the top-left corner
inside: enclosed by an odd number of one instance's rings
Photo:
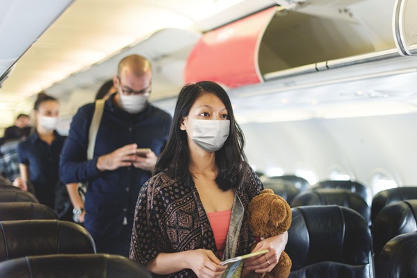
[[[35,202],[0,202],[0,221],[57,219],[50,207]]]

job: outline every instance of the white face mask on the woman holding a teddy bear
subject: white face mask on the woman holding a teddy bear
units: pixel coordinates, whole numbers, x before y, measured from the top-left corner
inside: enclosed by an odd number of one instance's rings
[[[215,152],[222,148],[227,137],[229,137],[229,120],[189,119],[193,122],[191,139],[197,146],[208,152]]]

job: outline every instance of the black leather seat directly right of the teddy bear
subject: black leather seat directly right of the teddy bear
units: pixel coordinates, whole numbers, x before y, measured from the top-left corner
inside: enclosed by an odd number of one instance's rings
[[[371,232],[360,214],[337,205],[291,210],[290,278],[373,277]]]

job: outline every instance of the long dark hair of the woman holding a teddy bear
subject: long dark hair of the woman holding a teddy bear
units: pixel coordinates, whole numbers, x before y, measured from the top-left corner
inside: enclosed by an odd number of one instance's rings
[[[155,166],[155,174],[163,172],[185,184],[193,182],[193,174],[190,173],[188,168],[190,149],[188,148],[187,134],[185,130],[180,130],[179,127],[184,121],[184,117],[188,116],[197,98],[207,93],[215,94],[220,98],[220,101],[226,106],[230,120],[229,137],[227,137],[222,148],[215,152],[215,163],[219,170],[215,182],[220,189],[226,191],[240,186],[245,177],[245,166],[247,165],[243,150],[245,137],[235,121],[229,96],[220,85],[211,81],[185,85],[179,92],[168,143],[159,155]]]

